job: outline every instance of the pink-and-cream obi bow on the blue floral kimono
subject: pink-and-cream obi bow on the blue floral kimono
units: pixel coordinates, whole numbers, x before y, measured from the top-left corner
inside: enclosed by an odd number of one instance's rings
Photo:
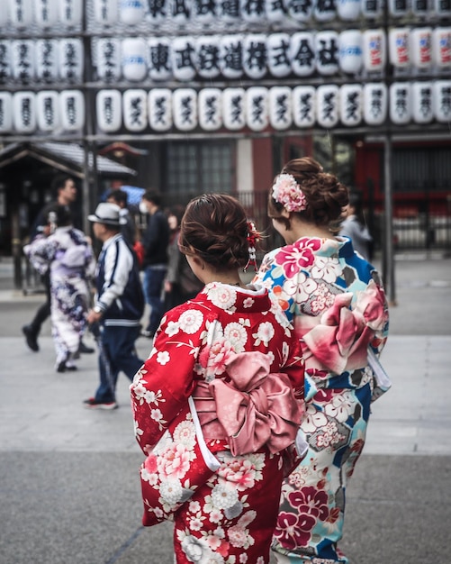
[[[364,292],[335,296],[334,305],[317,317],[300,315],[294,326],[307,345],[306,368],[328,368],[335,374],[368,364],[367,348],[387,321],[383,289],[371,280]]]

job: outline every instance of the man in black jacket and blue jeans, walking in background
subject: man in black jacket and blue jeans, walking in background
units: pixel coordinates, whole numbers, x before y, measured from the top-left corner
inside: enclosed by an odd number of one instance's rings
[[[161,199],[157,192],[146,192],[142,196],[149,214],[149,223],[142,237],[144,246],[144,294],[150,305],[149,325],[143,334],[152,339],[164,314],[162,300],[163,283],[167,273],[167,245],[169,225],[160,209]]]

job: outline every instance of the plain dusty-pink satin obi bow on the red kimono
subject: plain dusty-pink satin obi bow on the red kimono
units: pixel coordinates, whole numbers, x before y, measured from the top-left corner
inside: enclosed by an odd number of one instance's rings
[[[290,378],[270,373],[269,367],[263,352],[242,352],[226,364],[230,382],[198,384],[193,396],[206,440],[226,438],[234,456],[264,446],[280,452],[293,443],[302,405],[294,397]]]

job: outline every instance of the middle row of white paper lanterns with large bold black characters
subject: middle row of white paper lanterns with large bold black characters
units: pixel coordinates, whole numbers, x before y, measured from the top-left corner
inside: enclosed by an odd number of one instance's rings
[[[106,81],[356,75],[362,69],[382,72],[387,59],[396,68],[451,71],[451,27],[391,28],[388,41],[383,29],[232,34],[219,40],[215,35],[98,38],[93,51],[97,77]],[[83,69],[79,38],[0,41],[2,82],[79,82]]]

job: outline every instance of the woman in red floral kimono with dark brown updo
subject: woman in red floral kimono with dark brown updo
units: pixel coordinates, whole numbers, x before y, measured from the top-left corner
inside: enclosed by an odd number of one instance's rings
[[[302,353],[266,289],[240,281],[248,229],[230,196],[199,196],[187,206],[180,248],[205,287],[165,314],[131,385],[136,438],[150,455],[140,468],[143,523],[174,518],[178,564],[267,564],[282,480],[303,446],[293,449]],[[216,461],[197,487],[189,396]],[[180,508],[171,514],[173,506]]]

